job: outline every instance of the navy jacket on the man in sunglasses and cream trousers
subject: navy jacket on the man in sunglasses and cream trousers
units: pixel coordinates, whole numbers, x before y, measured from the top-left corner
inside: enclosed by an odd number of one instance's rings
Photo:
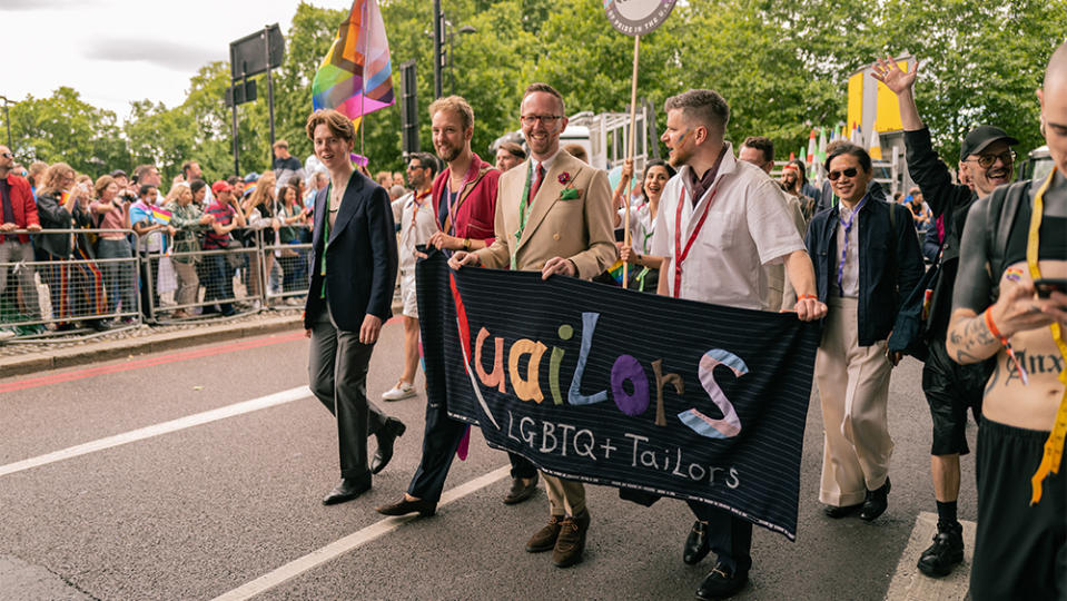
[[[890,231],[890,210],[897,213],[893,231]],[[838,215],[838,206],[818,213],[811,218],[804,240],[816,268],[819,299],[823,303],[831,283],[836,287],[841,260],[837,247]],[[911,211],[890,205],[878,195],[868,197],[859,215],[859,252],[858,338],[860,346],[870,346],[889,337],[901,299],[922,277],[922,256]]]

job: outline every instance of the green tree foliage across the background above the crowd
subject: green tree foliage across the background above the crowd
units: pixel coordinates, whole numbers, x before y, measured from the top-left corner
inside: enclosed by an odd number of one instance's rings
[[[622,111],[630,102],[633,39],[615,32],[601,2],[590,0],[443,0],[451,22],[444,92],[464,96],[475,111],[475,151],[518,127],[523,88],[547,81],[567,112]],[[419,139],[433,149],[427,107],[433,97],[433,2],[379,0],[392,48],[394,89],[399,65],[415,60]],[[310,154],[304,124],[310,86],[345,19],[302,1],[274,73],[277,137],[302,160]],[[462,26],[474,32],[458,33]],[[769,136],[787,155],[807,144],[811,127],[843,120],[848,77],[887,52],[922,60],[917,102],[938,151],[957,156],[959,139],[979,122],[996,124],[1026,151],[1043,144],[1034,90],[1049,53],[1067,37],[1067,0],[689,0],[641,40],[639,96],[659,109],[694,87],[720,91],[732,109],[729,138]],[[454,81],[454,83],[453,83]],[[186,100],[174,108],[140,100],[119,125],[70,88],[11,107],[13,150],[23,162],[66,160],[92,175],[154,161],[169,180],[196,159],[214,179],[234,170],[230,85],[225,62],[204,66]],[[238,108],[240,169],[269,167],[267,85]],[[360,127],[357,151],[371,169],[397,170],[398,106]]]

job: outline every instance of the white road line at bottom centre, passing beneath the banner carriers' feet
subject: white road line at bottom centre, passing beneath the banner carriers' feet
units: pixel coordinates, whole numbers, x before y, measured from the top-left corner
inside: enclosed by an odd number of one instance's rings
[[[510,473],[511,466],[504,465],[493,470],[487,474],[475,477],[468,482],[464,482],[454,489],[445,491],[445,493],[441,495],[441,501],[437,502],[437,506],[441,508],[442,505],[447,505],[453,501],[463,499],[464,496],[503,479]],[[219,597],[216,597],[214,601],[244,601],[246,599],[251,599],[253,597],[268,589],[273,589],[274,587],[277,587],[278,584],[281,584],[292,578],[312,570],[313,568],[322,565],[379,536],[393,532],[407,522],[416,519],[417,515],[418,514],[405,515],[402,518],[386,518],[375,522],[367,528],[357,530],[356,532],[353,532],[343,539],[338,539],[326,546],[316,549],[303,558],[297,558],[271,572],[257,578],[256,580],[247,582],[227,593],[220,594]]]

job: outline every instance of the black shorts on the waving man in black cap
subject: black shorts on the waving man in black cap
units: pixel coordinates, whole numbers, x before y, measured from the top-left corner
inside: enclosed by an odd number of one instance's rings
[[[945,341],[931,341],[922,366],[922,392],[933,418],[931,455],[966,455],[967,410],[981,415],[981,397],[992,372],[992,362],[960,365],[945,351]]]

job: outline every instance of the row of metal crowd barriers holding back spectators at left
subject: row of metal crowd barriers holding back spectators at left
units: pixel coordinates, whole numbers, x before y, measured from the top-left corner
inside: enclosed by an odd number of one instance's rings
[[[0,285],[0,343],[66,342],[144,323],[221,321],[303,306],[312,245],[280,244],[269,227],[241,231],[234,230],[235,242],[226,249],[195,253],[174,252],[174,240],[159,230],[144,238],[132,229],[0,233],[7,240],[20,234],[32,238],[26,245],[32,260],[26,259],[22,245],[9,250],[0,244],[0,269],[7,276]],[[129,256],[102,258],[105,234],[121,234]],[[79,236],[81,244],[73,246],[71,258],[57,259],[39,249],[43,236]]]

